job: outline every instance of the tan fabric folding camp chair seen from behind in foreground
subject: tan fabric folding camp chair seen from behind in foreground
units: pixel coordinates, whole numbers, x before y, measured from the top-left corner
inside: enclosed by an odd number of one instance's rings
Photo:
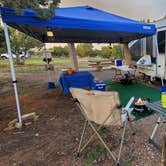
[[[78,157],[80,156],[80,153],[89,145],[90,141],[96,135],[101,141],[101,143],[104,145],[110,156],[116,162],[116,164],[119,165],[127,120],[132,110],[130,106],[134,101],[134,97],[132,97],[129,100],[126,107],[123,108],[121,111],[117,92],[87,91],[78,88],[70,88],[70,92],[85,118],[85,124],[81,135],[77,156]],[[96,129],[94,125],[91,123],[92,121],[100,126]],[[83,137],[88,125],[94,131],[94,134],[82,147]],[[104,142],[104,140],[99,134],[99,130],[103,126],[109,126],[109,125],[120,126],[120,127],[123,126],[120,148],[117,157],[115,157],[115,154],[110,150],[110,148],[107,146],[107,144]]]

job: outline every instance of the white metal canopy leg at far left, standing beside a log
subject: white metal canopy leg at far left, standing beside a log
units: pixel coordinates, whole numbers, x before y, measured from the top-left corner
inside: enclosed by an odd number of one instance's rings
[[[18,98],[18,90],[17,90],[17,80],[16,80],[15,70],[14,70],[14,65],[13,65],[13,57],[12,57],[12,52],[11,52],[8,28],[7,28],[7,24],[6,23],[3,23],[3,25],[4,25],[4,33],[5,33],[7,51],[8,51],[8,55],[9,55],[12,83],[13,83],[15,99],[16,99],[19,127],[22,127],[21,110],[20,110],[20,104],[19,104],[19,98]]]

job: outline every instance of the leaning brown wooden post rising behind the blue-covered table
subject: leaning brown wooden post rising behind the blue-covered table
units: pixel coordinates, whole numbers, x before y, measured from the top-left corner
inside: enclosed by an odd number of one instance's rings
[[[77,52],[75,50],[74,43],[68,43],[68,47],[69,47],[69,56],[71,60],[72,69],[74,71],[78,71]]]

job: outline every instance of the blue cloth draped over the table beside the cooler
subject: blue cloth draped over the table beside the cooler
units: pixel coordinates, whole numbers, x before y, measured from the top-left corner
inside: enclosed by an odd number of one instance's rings
[[[94,84],[93,75],[87,71],[73,73],[72,75],[62,73],[59,79],[59,83],[64,94],[67,94],[69,92],[70,87],[86,88],[92,87]]]

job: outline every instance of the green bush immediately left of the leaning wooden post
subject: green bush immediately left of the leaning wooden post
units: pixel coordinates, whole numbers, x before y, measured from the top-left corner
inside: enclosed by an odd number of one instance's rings
[[[54,47],[52,55],[56,56],[56,57],[68,56],[69,55],[69,49],[68,49],[67,46],[65,46],[65,47],[60,47],[60,46]]]

